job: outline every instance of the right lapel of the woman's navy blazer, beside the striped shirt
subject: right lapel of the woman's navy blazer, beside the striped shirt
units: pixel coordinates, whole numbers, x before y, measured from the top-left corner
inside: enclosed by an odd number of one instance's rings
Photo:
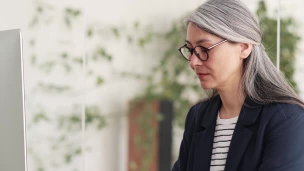
[[[256,104],[248,96],[246,97],[233,131],[224,171],[237,170],[252,136],[252,132],[246,127],[255,122],[261,108],[262,105]]]

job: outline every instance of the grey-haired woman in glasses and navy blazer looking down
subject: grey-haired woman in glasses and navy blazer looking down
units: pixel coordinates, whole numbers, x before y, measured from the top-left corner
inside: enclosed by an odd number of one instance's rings
[[[208,0],[179,48],[210,96],[186,116],[174,171],[304,170],[304,102],[261,43],[240,0]]]

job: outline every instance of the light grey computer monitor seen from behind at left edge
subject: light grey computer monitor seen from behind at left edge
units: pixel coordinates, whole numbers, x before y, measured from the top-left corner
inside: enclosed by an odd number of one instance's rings
[[[19,29],[0,31],[0,170],[27,170],[22,38]]]

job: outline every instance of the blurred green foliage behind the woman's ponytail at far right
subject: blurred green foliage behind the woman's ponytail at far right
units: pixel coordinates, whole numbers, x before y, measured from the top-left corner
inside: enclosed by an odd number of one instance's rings
[[[256,10],[261,21],[263,32],[262,42],[269,57],[276,64],[276,34],[277,19],[267,15],[267,7],[263,0],[258,2]],[[284,73],[289,84],[298,92],[296,82],[293,80],[295,50],[300,40],[296,32],[296,22],[291,16],[280,19],[280,70]]]

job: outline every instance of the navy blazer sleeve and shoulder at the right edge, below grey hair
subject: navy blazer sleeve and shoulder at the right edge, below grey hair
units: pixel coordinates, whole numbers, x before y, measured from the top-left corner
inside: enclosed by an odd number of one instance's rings
[[[264,105],[259,170],[303,170],[304,108],[297,104]],[[263,131],[264,129],[264,131]]]

